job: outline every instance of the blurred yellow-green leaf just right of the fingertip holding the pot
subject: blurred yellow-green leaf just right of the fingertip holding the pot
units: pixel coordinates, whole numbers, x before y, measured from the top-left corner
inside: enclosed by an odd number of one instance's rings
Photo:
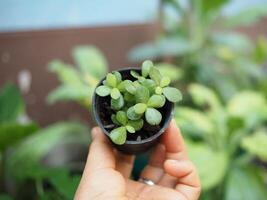
[[[214,133],[213,122],[204,112],[196,109],[179,106],[175,109],[175,119],[185,134],[203,138],[206,134],[209,136]]]

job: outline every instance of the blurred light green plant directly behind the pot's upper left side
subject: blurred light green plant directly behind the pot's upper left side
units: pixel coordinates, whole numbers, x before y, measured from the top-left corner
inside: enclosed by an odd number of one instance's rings
[[[49,70],[57,74],[61,85],[48,95],[47,101],[77,101],[90,108],[94,89],[107,73],[107,61],[93,46],[78,46],[72,56],[77,67],[60,60],[50,62]]]

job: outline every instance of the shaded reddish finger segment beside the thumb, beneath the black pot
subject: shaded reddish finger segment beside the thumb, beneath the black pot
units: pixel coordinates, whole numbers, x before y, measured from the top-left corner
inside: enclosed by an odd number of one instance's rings
[[[125,155],[119,151],[115,151],[116,170],[119,171],[124,178],[129,178],[133,169],[135,156]]]

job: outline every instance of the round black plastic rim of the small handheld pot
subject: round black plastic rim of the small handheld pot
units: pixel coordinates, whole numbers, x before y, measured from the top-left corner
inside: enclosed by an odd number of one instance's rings
[[[124,71],[130,71],[130,70],[135,70],[135,71],[141,72],[141,68],[138,68],[138,67],[126,67],[126,68],[121,68],[121,69],[119,69],[119,70],[114,70],[114,71],[124,72]],[[113,71],[112,71],[112,72],[113,72]],[[104,76],[104,77],[99,81],[99,83],[98,83],[97,86],[95,87],[95,90],[96,90],[96,88],[97,88],[98,86],[100,86],[100,85],[103,83],[103,81],[105,80],[105,78],[106,78],[106,76]],[[94,90],[94,94],[93,94],[93,102],[92,102],[92,110],[93,110],[93,114],[94,114],[94,117],[95,117],[95,119],[96,119],[96,122],[97,122],[98,126],[102,129],[102,131],[104,132],[104,134],[105,134],[106,136],[108,136],[108,138],[109,138],[109,132],[104,128],[104,126],[103,126],[103,124],[102,124],[102,121],[101,121],[101,119],[100,119],[100,117],[99,117],[99,114],[97,113],[97,110],[96,110],[96,106],[95,106],[95,105],[96,105],[96,95],[97,95],[97,94],[96,94],[95,90]],[[168,102],[168,103],[171,104],[171,110],[172,110],[172,111],[171,111],[170,116],[167,116],[167,117],[166,117],[167,119],[166,119],[166,121],[164,122],[163,126],[160,128],[160,130],[159,130],[156,134],[154,134],[153,136],[151,136],[151,137],[149,137],[149,138],[146,138],[146,139],[143,139],[143,140],[141,140],[141,141],[129,141],[129,140],[126,140],[125,143],[124,143],[123,145],[125,145],[125,144],[144,144],[144,143],[153,141],[153,140],[157,139],[159,136],[161,136],[161,135],[163,134],[163,132],[167,129],[167,127],[168,127],[170,121],[172,120],[172,116],[173,116],[174,103],[169,102],[169,101],[166,101],[166,102]],[[109,139],[110,139],[110,138],[109,138]]]

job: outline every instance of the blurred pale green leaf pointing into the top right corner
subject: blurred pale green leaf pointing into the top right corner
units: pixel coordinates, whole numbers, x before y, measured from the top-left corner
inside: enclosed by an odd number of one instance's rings
[[[261,17],[267,15],[266,4],[259,6],[252,6],[244,9],[243,11],[237,13],[233,16],[225,17],[225,26],[236,27],[236,26],[249,26],[260,20]]]

